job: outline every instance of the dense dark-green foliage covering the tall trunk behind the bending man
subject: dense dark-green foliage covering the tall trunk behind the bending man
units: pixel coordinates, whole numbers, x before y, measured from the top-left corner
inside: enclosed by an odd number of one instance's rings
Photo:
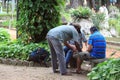
[[[60,23],[65,0],[19,0],[18,36],[24,42],[38,43],[49,29]]]

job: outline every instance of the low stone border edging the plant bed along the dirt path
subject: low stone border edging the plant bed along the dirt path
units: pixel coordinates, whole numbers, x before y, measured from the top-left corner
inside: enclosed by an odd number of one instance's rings
[[[1,58],[0,64],[14,65],[14,66],[28,66],[28,67],[46,67],[44,64],[34,63],[32,61],[22,61],[17,59]],[[48,67],[51,66],[50,62],[47,62]]]

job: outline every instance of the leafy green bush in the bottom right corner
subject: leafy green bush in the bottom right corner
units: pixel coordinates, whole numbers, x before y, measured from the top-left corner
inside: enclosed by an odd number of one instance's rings
[[[87,75],[89,80],[120,80],[120,58],[98,64]]]

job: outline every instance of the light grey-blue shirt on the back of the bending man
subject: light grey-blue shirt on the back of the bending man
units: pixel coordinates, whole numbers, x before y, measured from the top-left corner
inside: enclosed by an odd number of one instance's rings
[[[53,36],[63,42],[71,39],[78,40],[79,36],[77,30],[71,25],[62,25],[55,27],[51,29],[47,35]]]

